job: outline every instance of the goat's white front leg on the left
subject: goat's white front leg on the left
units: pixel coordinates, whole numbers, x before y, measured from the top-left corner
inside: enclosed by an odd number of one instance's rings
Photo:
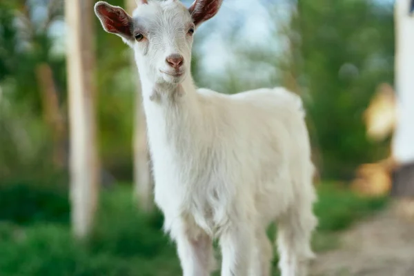
[[[213,241],[206,234],[183,231],[177,235],[177,251],[184,276],[208,276],[213,269]]]

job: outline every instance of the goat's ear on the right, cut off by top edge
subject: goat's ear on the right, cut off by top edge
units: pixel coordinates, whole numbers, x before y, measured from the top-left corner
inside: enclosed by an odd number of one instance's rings
[[[188,8],[195,26],[214,17],[219,11],[221,3],[223,0],[195,0],[193,5]]]

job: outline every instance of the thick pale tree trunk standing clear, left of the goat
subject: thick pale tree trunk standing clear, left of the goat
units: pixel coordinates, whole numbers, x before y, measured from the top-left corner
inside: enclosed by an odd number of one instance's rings
[[[94,1],[95,2],[95,1]],[[95,122],[92,0],[65,1],[70,119],[72,231],[86,237],[97,209],[99,164]]]

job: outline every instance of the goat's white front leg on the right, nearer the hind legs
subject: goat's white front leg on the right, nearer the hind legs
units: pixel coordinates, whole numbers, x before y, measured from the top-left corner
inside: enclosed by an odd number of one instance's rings
[[[221,276],[247,276],[254,256],[255,232],[251,222],[232,224],[220,237]]]

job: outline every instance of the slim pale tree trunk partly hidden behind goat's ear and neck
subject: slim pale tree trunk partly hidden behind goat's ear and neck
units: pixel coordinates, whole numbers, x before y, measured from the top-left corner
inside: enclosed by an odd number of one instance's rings
[[[137,7],[135,0],[127,0],[127,10],[132,11]],[[134,62],[134,55],[131,55],[131,68],[135,72],[133,79],[135,86],[135,119],[132,137],[132,148],[134,152],[134,197],[141,210],[150,212],[154,208],[152,199],[152,187],[154,181],[150,170],[150,155],[147,149],[146,119],[142,108],[141,83],[139,72]]]

